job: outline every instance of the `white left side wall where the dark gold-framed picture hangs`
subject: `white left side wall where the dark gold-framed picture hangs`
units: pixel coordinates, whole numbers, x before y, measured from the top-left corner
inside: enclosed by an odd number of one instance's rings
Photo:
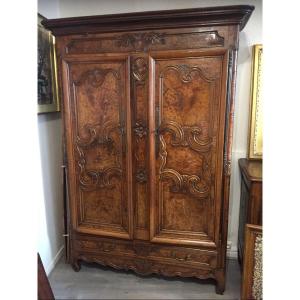
[[[39,0],[38,12],[58,18],[58,1]],[[38,115],[44,198],[38,205],[38,252],[45,271],[51,272],[63,254],[62,124],[60,113]]]

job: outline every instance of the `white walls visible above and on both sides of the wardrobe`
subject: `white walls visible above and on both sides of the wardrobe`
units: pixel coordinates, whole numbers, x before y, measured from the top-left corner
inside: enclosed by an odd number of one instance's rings
[[[248,24],[240,35],[238,77],[235,105],[235,126],[232,153],[232,180],[229,209],[230,256],[236,257],[239,219],[240,176],[237,160],[246,157],[250,99],[251,46],[262,43],[262,3],[255,0],[39,0],[39,12],[48,18],[98,15],[122,12],[192,8],[219,5],[255,5]],[[62,196],[60,182],[61,119],[57,115],[39,116],[40,146],[45,192],[44,213],[41,217],[39,249],[46,270],[50,270],[55,255],[62,249]],[[52,178],[52,179],[51,179]]]

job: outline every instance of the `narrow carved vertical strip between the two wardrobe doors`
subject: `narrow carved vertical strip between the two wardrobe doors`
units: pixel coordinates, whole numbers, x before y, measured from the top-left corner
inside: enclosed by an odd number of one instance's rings
[[[148,56],[131,56],[134,237],[149,240]]]

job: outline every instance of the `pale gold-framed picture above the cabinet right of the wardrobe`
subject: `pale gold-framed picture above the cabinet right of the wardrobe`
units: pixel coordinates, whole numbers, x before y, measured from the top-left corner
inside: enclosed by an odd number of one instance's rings
[[[262,45],[253,46],[252,82],[249,122],[249,159],[263,157],[263,109],[262,109]]]

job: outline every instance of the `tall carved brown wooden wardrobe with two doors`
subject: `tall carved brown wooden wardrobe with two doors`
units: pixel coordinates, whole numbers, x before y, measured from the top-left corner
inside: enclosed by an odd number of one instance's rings
[[[225,289],[239,5],[43,22],[56,37],[69,260]]]

